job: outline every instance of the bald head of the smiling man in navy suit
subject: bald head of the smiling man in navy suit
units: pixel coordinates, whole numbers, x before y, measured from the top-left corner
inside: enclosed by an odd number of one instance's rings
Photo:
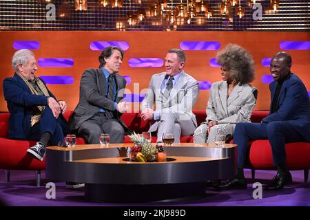
[[[291,55],[287,52],[278,52],[270,63],[270,72],[274,80],[282,80],[291,72]]]

